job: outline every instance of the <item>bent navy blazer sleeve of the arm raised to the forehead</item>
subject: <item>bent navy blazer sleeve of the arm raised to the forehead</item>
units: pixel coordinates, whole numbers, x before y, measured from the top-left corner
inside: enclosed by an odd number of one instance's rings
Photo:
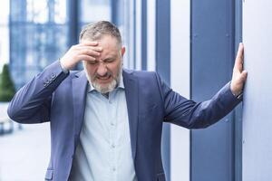
[[[8,116],[19,123],[50,121],[53,91],[68,75],[59,61],[53,62],[16,92],[9,103]]]

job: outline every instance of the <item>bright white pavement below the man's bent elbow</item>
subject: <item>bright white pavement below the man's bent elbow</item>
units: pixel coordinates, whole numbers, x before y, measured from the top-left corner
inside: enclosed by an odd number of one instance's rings
[[[0,181],[39,181],[50,158],[49,123],[23,125],[0,135]]]

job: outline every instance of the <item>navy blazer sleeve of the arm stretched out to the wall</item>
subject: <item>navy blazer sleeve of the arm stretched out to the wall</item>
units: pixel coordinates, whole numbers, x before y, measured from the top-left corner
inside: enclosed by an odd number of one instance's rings
[[[238,100],[230,90],[228,82],[210,100],[195,102],[187,100],[171,90],[163,81],[159,82],[161,99],[164,103],[164,121],[174,123],[187,129],[203,129],[216,123],[233,110]]]

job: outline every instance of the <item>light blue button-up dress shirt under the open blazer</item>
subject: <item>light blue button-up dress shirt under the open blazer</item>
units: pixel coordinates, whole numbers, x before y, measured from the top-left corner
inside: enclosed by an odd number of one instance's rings
[[[137,181],[124,89],[122,77],[108,98],[89,86],[69,180]]]

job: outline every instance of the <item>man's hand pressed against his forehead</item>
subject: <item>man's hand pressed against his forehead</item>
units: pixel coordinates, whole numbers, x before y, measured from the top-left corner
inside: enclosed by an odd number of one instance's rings
[[[65,70],[72,70],[73,67],[81,61],[95,61],[95,57],[100,56],[102,47],[98,42],[83,41],[73,45],[68,52],[61,58],[60,62]]]

